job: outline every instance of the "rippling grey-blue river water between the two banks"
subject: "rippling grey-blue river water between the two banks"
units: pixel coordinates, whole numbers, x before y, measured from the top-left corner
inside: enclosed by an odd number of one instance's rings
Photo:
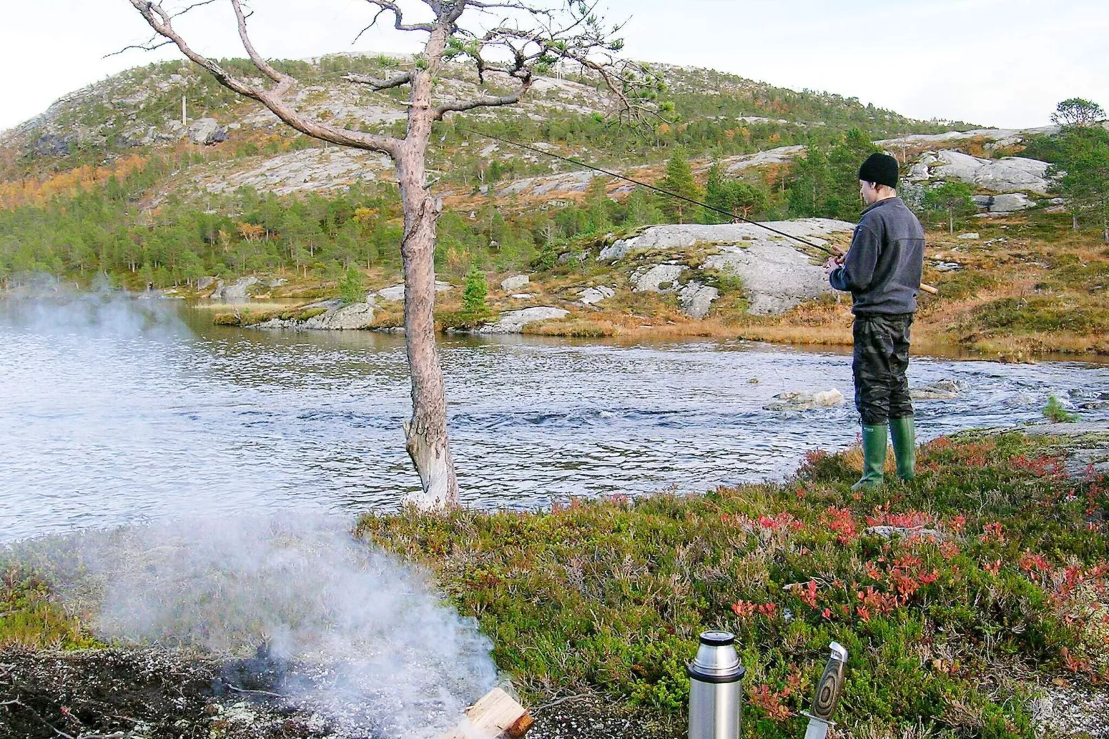
[[[388,509],[418,485],[401,336],[211,325],[171,301],[0,301],[0,541],[170,516]],[[848,403],[763,406],[838,387],[851,357],[742,342],[444,338],[462,502],[699,492],[782,477],[856,438]],[[919,435],[1032,422],[1049,394],[1109,392],[1109,367],[915,357]],[[757,382],[751,382],[757,379]],[[1086,419],[1109,417],[1083,412]]]

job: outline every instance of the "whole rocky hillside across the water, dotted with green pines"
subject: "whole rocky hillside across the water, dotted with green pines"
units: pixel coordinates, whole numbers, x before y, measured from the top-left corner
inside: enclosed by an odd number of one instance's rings
[[[344,77],[400,63],[282,62],[302,80],[293,94],[303,110],[393,132],[404,125],[404,92],[367,92]],[[926,281],[940,297],[925,301],[920,337],[1006,356],[1109,352],[1103,247],[1069,230],[1048,163],[1034,158],[1054,126],[913,121],[712,70],[659,71],[674,112],[650,128],[612,125],[606,95],[569,70],[540,78],[519,107],[439,125],[430,166],[446,212],[436,265],[454,285],[439,298],[444,327],[474,323],[460,318],[460,287],[477,269],[490,285],[484,331],[849,342],[848,306],[826,294],[820,254],[533,150],[652,183],[685,176],[685,166],[698,198],[711,201],[710,181],[726,181],[753,198],[750,217],[843,247],[858,212],[855,168],[876,148],[903,162],[902,194],[934,227]],[[480,88],[461,67],[438,84],[448,98]],[[826,165],[818,182],[814,154]],[[180,62],[134,69],[0,135],[0,280],[49,272],[89,284],[106,273],[132,290],[305,301],[222,317],[230,323],[391,328],[400,318],[391,182],[385,158],[296,134]],[[954,182],[973,202],[942,213],[928,194]],[[339,303],[340,280],[345,295],[368,297]]]

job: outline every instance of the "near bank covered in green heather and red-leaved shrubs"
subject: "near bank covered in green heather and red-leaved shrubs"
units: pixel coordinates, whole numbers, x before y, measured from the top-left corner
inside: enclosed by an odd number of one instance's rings
[[[1098,737],[1109,681],[1109,485],[1092,469],[1069,476],[1067,459],[1080,447],[1095,459],[1089,449],[1103,451],[1109,429],[1079,431],[942,437],[922,448],[916,482],[865,494],[848,489],[857,449],[814,452],[784,483],[546,512],[365,516],[357,532],[426,567],[478,620],[498,667],[530,705],[547,707],[537,736],[612,736],[614,727],[681,736],[684,661],[700,630],[728,628],[747,667],[745,736],[803,733],[798,711],[835,639],[852,655],[837,717],[851,736],[923,727],[917,736],[1031,738],[1047,722],[1057,736]],[[67,611],[50,573],[4,558],[0,703],[18,697],[23,675],[10,655],[41,667],[58,658],[35,650],[98,654],[83,651],[96,644],[88,614]],[[82,690],[96,689],[88,682]],[[189,728],[181,736],[260,736],[226,717],[223,733],[205,733],[233,703],[277,710],[264,685],[235,687],[261,692],[199,690],[195,710],[172,713]],[[38,718],[72,736],[75,720],[140,736],[104,715],[68,718],[62,707],[81,696],[67,700],[43,699]],[[0,708],[9,721],[18,710]],[[289,727],[301,726],[295,718]],[[29,715],[20,721],[28,733],[18,736],[57,736]],[[296,730],[267,736],[326,736]]]

